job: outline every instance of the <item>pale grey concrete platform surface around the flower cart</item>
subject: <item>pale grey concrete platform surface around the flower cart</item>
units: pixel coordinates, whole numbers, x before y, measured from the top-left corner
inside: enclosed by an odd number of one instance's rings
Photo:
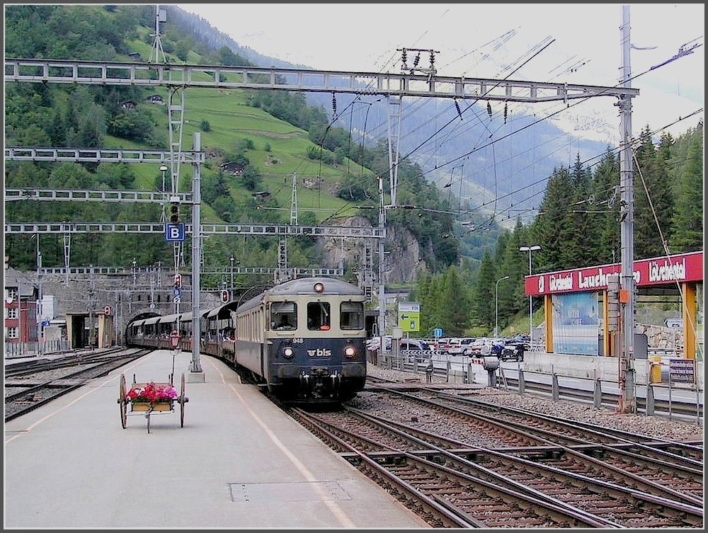
[[[174,367],[179,393],[191,357],[154,352],[8,421],[4,529],[429,527],[212,357],[185,379],[184,427],[176,403],[123,429],[120,376]]]

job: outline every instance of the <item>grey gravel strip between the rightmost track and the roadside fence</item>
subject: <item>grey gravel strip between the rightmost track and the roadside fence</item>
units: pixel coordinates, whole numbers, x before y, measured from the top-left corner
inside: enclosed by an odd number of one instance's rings
[[[415,379],[416,376],[420,377],[421,382],[426,381],[425,374],[413,374],[412,372],[383,369],[372,364],[367,366],[367,372],[373,377],[391,379],[396,382],[410,382],[411,379]],[[433,382],[445,383],[444,379],[440,377],[433,377]],[[459,389],[450,389],[452,393],[457,391],[459,391]],[[467,389],[465,390],[465,394],[470,396],[479,395],[480,399],[484,401],[500,403],[505,406],[521,408],[535,413],[544,413],[568,420],[579,420],[605,428],[615,428],[664,440],[674,440],[678,442],[702,441],[704,437],[702,420],[699,424],[697,421],[690,422],[677,420],[676,418],[669,420],[667,415],[626,415],[616,413],[607,408],[598,409],[587,403],[569,400],[553,401],[539,396],[532,396],[531,394],[521,395],[515,391],[503,391],[492,387],[485,389]]]

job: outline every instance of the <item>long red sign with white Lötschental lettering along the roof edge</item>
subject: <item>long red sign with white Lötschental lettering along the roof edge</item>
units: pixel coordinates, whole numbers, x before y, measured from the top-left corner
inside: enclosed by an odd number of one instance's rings
[[[527,296],[540,296],[561,292],[605,290],[607,289],[607,276],[610,274],[622,275],[622,265],[617,263],[526,276],[525,293]],[[632,275],[634,283],[638,287],[702,281],[703,252],[681,253],[677,256],[634,261]]]

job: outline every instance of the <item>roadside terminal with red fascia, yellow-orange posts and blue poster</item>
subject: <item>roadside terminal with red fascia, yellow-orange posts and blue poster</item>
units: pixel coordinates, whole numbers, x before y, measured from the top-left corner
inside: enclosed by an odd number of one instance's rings
[[[681,253],[645,260],[632,266],[635,285],[634,357],[647,357],[647,337],[666,337],[673,354],[702,359],[703,252]],[[543,299],[543,337],[546,353],[613,355],[619,342],[622,305],[626,292],[615,291],[613,275],[622,275],[619,263],[525,276],[525,294]],[[658,326],[636,320],[644,306],[666,309],[670,316]],[[619,310],[619,312],[618,312]],[[680,340],[680,342],[678,340]],[[652,339],[653,340],[653,339]],[[656,342],[649,341],[649,346]]]

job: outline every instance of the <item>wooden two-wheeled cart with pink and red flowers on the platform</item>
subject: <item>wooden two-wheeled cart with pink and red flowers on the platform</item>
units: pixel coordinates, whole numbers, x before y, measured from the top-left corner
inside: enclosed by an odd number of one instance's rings
[[[180,427],[183,428],[184,404],[189,401],[184,395],[184,373],[182,374],[182,386],[179,395],[172,381],[170,377],[169,383],[136,383],[135,374],[133,374],[132,386],[130,390],[127,390],[125,374],[121,374],[118,404],[120,405],[120,424],[123,429],[127,427],[128,415],[144,415],[147,418],[147,432],[149,433],[150,416],[153,414],[173,413],[176,409],[175,403],[179,403],[180,406]],[[128,406],[130,406],[130,410]]]

